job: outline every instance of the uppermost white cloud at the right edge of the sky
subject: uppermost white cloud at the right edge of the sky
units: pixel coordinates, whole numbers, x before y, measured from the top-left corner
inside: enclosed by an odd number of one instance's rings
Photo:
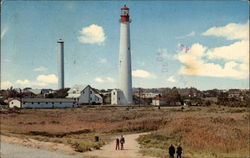
[[[224,37],[227,40],[247,40],[249,39],[249,21],[245,24],[230,23],[226,26],[212,27],[202,35]]]

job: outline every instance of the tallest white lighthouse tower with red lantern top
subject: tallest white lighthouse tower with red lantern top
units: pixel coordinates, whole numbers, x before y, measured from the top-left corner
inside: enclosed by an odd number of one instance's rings
[[[132,75],[130,52],[129,8],[121,8],[120,51],[119,51],[119,89],[122,91],[120,104],[132,104]]]

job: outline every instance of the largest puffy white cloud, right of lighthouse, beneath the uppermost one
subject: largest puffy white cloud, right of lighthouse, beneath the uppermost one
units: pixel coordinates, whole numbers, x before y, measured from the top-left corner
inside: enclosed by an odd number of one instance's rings
[[[233,47],[235,45],[232,45]],[[230,49],[230,48],[227,48]],[[237,61],[236,59],[243,59],[243,57],[232,57],[226,58],[224,57],[224,52],[227,49],[219,49],[214,48],[211,50],[207,50],[206,47],[202,46],[199,43],[195,43],[192,45],[190,51],[188,53],[180,52],[175,57],[183,63],[180,67],[180,73],[186,75],[197,75],[197,76],[211,76],[211,77],[230,77],[236,79],[244,79],[248,77],[248,67],[247,63],[243,61]],[[217,56],[213,56],[211,52],[215,50],[217,53],[221,53],[220,57],[225,60],[224,64],[215,64],[213,62],[208,62],[208,60],[215,59]],[[244,50],[239,48],[238,51]],[[238,53],[236,51],[235,53]],[[244,53],[238,53],[244,54]],[[233,60],[235,59],[235,60]]]

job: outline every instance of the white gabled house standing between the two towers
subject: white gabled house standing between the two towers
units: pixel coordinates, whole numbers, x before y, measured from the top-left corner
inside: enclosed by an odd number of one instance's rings
[[[90,85],[75,85],[68,91],[67,98],[75,99],[79,104],[102,104],[103,98]]]

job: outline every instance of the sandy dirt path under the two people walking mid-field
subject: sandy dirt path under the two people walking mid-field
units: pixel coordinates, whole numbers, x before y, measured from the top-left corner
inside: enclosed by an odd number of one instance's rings
[[[84,157],[92,158],[152,158],[148,156],[143,156],[139,153],[140,145],[136,139],[146,133],[139,134],[129,134],[125,135],[125,145],[124,150],[115,150],[115,138],[111,143],[103,146],[101,150],[94,150],[84,153]]]

